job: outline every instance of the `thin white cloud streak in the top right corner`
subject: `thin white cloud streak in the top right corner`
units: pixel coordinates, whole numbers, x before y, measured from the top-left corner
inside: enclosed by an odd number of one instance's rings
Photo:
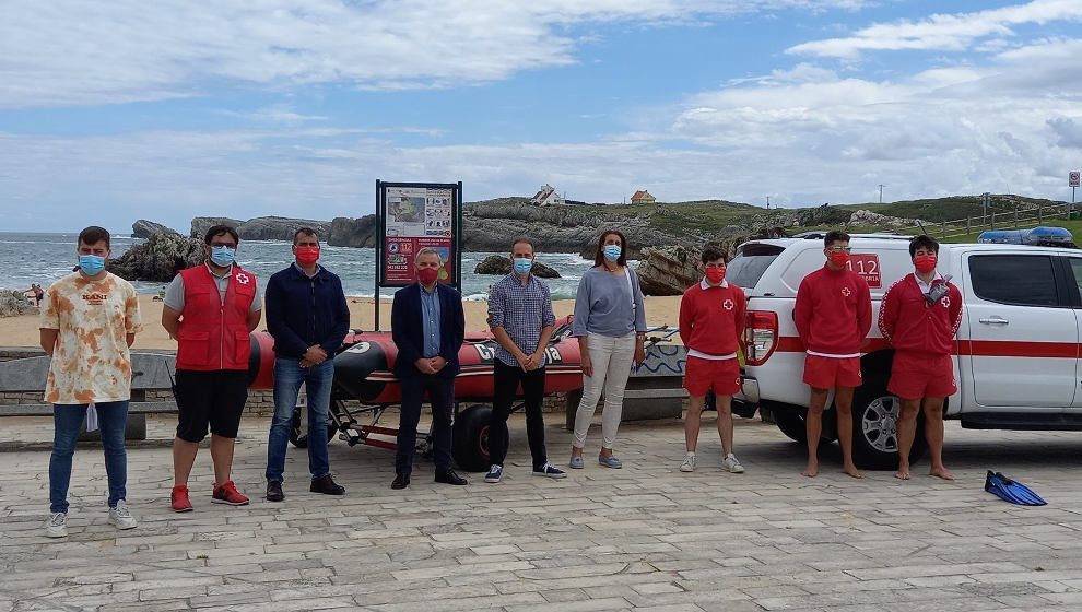
[[[875,24],[852,36],[802,43],[787,52],[823,57],[857,58],[862,51],[968,49],[986,36],[1011,37],[1012,26],[1052,21],[1082,21],[1078,0],[1034,0],[1026,4],[990,9],[976,13],[936,14],[921,21]],[[995,48],[1002,42],[986,42]]]

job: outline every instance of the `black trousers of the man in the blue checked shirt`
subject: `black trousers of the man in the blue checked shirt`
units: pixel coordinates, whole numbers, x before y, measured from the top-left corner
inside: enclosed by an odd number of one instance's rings
[[[492,424],[489,426],[489,457],[494,466],[503,466],[507,458],[507,417],[522,385],[526,400],[526,436],[530,440],[533,469],[544,466],[549,458],[544,451],[544,420],[541,417],[541,403],[544,401],[544,368],[522,372],[521,367],[509,366],[499,360],[492,360],[495,397],[492,405]]]

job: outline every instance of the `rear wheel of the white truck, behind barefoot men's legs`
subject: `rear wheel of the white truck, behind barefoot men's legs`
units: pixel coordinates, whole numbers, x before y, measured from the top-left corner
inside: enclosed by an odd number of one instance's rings
[[[886,390],[885,377],[868,377],[852,396],[852,460],[869,470],[894,470],[898,467],[898,416],[902,400]],[[925,451],[924,417],[917,417],[917,431],[909,450],[909,463]]]

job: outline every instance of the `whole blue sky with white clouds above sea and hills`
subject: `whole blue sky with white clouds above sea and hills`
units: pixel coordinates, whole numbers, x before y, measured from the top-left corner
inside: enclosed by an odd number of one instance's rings
[[[377,178],[1069,200],[1080,25],[1079,0],[7,0],[0,231],[360,216]]]

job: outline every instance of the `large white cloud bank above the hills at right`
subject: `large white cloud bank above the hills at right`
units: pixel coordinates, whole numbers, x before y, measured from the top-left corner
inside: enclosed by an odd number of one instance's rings
[[[745,193],[762,181],[772,192],[860,201],[886,183],[892,199],[1008,186],[1062,198],[1082,142],[1078,57],[1082,40],[1043,40],[984,66],[892,81],[801,64],[692,97],[670,137],[729,160]]]

